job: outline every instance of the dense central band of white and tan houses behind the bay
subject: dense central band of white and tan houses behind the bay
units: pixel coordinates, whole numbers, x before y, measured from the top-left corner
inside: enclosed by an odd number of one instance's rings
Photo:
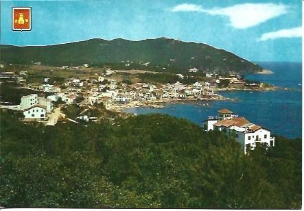
[[[119,83],[115,72],[107,70],[102,75],[93,75],[83,78],[67,78],[64,84],[49,84],[45,78],[43,84],[25,84],[29,88],[41,92],[49,92],[47,99],[51,101],[65,101],[67,104],[81,103],[93,105],[104,103],[110,109],[112,105],[130,103],[132,101],[144,102],[156,99],[216,99],[217,82],[196,82],[194,84],[149,84]],[[180,74],[181,75],[181,74]],[[183,77],[183,75],[181,75]]]

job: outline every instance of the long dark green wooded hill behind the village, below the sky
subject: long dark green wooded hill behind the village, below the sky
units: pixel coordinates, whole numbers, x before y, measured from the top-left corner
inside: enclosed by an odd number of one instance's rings
[[[253,73],[261,66],[248,62],[237,55],[215,49],[209,45],[183,42],[169,38],[130,41],[124,39],[102,40],[99,38],[60,45],[16,47],[1,45],[1,61],[14,64],[42,62],[46,66],[71,66],[90,64],[102,66],[132,61],[134,64],[150,62],[152,66],[166,67],[166,70],[187,71],[196,67],[201,71]],[[133,65],[133,66],[132,66]],[[164,71],[164,69],[161,69]]]

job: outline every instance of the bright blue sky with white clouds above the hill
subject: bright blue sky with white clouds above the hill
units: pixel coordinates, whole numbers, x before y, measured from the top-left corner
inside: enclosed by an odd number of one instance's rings
[[[56,45],[104,38],[176,38],[250,61],[301,62],[301,0],[0,1],[0,43]],[[32,31],[12,31],[12,7],[32,7]]]

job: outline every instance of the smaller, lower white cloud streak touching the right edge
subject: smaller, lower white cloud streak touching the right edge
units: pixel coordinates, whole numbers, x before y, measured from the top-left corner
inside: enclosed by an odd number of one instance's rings
[[[273,40],[278,38],[299,38],[302,36],[302,27],[292,29],[281,29],[276,32],[262,34],[258,41]]]

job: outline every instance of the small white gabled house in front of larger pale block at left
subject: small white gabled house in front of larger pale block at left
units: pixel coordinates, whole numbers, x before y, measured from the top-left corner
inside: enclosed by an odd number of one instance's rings
[[[45,121],[47,120],[47,108],[44,105],[33,105],[23,111],[25,121]]]

